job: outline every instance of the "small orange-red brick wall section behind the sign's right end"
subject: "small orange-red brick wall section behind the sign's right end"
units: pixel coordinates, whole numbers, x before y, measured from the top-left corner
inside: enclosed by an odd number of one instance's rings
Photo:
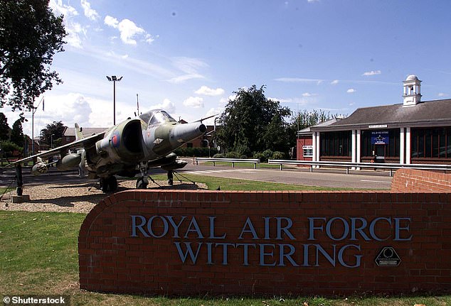
[[[400,192],[451,192],[451,174],[400,169],[396,170],[391,189]]]

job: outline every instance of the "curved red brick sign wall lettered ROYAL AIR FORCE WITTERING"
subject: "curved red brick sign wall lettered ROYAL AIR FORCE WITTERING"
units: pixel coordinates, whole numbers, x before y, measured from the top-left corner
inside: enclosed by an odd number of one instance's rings
[[[450,236],[451,193],[129,190],[101,201],[83,222],[80,288],[158,295],[450,291]],[[196,263],[189,255],[183,263],[187,245]],[[386,246],[399,266],[376,265]]]

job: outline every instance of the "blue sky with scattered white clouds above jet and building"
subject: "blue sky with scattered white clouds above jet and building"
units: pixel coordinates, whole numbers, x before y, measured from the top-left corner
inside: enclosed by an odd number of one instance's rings
[[[423,101],[451,98],[451,1],[50,0],[64,15],[63,84],[43,94],[46,124],[109,127],[162,108],[176,120],[221,114],[234,92],[265,85],[292,111],[350,115],[403,102],[403,80]],[[10,126],[20,111],[0,109]],[[31,112],[23,131],[31,136]],[[213,119],[206,121],[212,124]]]

